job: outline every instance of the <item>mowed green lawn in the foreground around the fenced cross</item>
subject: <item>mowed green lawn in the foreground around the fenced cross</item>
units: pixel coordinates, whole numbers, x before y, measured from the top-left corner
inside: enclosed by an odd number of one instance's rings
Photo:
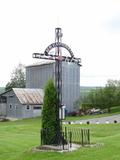
[[[77,151],[33,152],[40,144],[40,118],[0,122],[0,160],[120,160],[120,124],[67,125],[89,128],[94,147]]]

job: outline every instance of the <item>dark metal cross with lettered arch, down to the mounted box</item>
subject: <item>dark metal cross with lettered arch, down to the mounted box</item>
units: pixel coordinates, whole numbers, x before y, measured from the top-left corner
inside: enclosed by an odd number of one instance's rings
[[[50,44],[44,51],[44,53],[33,53],[33,58],[54,60],[55,61],[55,84],[57,88],[58,98],[59,98],[59,108],[62,107],[62,62],[76,63],[81,66],[81,58],[74,57],[74,54],[70,47],[62,43],[62,29],[55,29],[55,43]],[[55,48],[55,54],[50,54],[51,49]],[[62,56],[61,48],[65,48],[70,56]]]

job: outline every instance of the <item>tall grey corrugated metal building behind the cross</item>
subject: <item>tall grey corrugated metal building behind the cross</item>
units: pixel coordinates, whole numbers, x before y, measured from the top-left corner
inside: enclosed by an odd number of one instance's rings
[[[43,61],[26,67],[26,88],[44,88],[48,79],[55,80],[55,62]],[[73,103],[80,96],[80,66],[62,62],[62,104],[67,112],[74,110]]]

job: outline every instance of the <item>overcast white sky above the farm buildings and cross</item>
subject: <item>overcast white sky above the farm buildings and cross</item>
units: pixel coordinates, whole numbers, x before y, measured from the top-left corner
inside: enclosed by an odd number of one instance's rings
[[[82,59],[81,85],[120,79],[119,0],[0,0],[0,86],[22,63],[39,62],[61,27],[62,42]]]

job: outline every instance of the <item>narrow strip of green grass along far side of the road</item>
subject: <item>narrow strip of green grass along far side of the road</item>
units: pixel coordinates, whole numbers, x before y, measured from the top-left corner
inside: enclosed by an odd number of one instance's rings
[[[120,106],[116,106],[111,108],[110,113],[104,113],[104,114],[96,114],[96,115],[85,115],[85,116],[67,116],[65,120],[69,121],[75,121],[75,120],[82,120],[82,119],[92,119],[92,118],[100,118],[105,116],[112,116],[120,114]]]

